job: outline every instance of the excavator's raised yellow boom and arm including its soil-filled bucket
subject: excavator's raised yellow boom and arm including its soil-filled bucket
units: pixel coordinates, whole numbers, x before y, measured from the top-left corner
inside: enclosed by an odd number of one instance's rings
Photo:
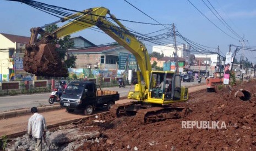
[[[107,14],[110,15],[110,18],[115,21],[116,24],[113,24],[105,18]],[[67,69],[64,67],[65,65],[61,62],[61,59],[58,58],[54,41],[68,34],[97,26],[135,56],[140,72],[145,80],[146,87],[149,86],[151,65],[145,45],[139,42],[115,16],[110,14],[110,10],[104,7],[86,9],[77,14],[67,16],[61,21],[69,21],[69,23],[52,33],[47,33],[40,27],[31,28],[31,39],[29,44],[26,45],[24,55],[25,71],[36,75],[66,77]],[[42,35],[41,40],[37,40],[38,34]],[[139,89],[141,92],[141,85]]]

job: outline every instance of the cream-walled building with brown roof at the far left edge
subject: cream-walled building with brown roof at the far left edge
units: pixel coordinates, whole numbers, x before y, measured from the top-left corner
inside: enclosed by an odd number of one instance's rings
[[[22,54],[25,52],[25,44],[29,43],[30,37],[17,36],[13,34],[0,33],[0,81],[9,80],[9,75],[13,71],[13,54]],[[17,56],[17,62],[19,57]],[[21,62],[21,63],[20,63]],[[29,74],[23,70],[22,59],[19,62],[19,74],[15,76],[21,77],[21,75]],[[17,64],[18,68],[18,64]],[[17,70],[18,71],[18,70]],[[26,75],[28,77],[28,75]],[[23,77],[23,76],[22,76]],[[24,76],[25,77],[25,76]]]

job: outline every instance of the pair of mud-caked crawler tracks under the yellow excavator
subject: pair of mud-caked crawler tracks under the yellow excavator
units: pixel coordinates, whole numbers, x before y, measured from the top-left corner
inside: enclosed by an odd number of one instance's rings
[[[178,119],[186,117],[192,110],[183,107],[172,106],[145,106],[136,102],[128,102],[124,104],[115,104],[110,109],[113,117],[121,117],[122,115],[135,115],[134,120],[140,123],[152,123],[165,119]]]

